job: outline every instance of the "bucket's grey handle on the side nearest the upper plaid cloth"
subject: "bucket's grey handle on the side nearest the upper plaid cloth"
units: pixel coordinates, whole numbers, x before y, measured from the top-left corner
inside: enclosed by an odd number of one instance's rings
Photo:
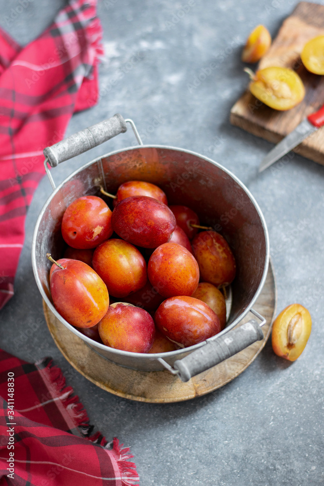
[[[116,137],[119,133],[126,132],[126,122],[130,123],[132,126],[139,145],[143,145],[134,121],[130,119],[124,120],[123,117],[117,113],[107,120],[100,121],[95,125],[85,128],[85,130],[70,135],[70,137],[51,145],[51,147],[46,147],[43,151],[43,154],[45,155],[44,166],[52,188],[55,189],[55,184],[49,171],[48,163],[51,167],[56,167],[61,162],[83,154],[87,150],[97,147],[97,145]]]

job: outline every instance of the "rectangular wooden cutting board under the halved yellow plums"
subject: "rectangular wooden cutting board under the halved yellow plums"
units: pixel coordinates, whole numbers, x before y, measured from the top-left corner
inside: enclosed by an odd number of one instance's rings
[[[276,111],[257,100],[247,89],[231,109],[233,125],[277,143],[324,104],[324,76],[308,72],[300,58],[306,42],[317,35],[324,35],[324,6],[304,1],[298,3],[283,22],[258,69],[271,66],[294,69],[305,85],[304,100],[291,110]],[[305,139],[294,151],[324,165],[324,127]]]

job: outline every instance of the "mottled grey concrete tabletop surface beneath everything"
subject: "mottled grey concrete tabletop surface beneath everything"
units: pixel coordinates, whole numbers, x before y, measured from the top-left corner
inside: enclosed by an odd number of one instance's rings
[[[50,23],[63,3],[30,1],[8,22],[6,16],[19,3],[1,0],[0,24],[23,44]],[[44,320],[31,242],[36,218],[51,192],[46,178],[29,209],[16,293],[0,312],[1,347],[29,361],[52,356],[91,422],[108,438],[117,435],[131,446],[142,486],[324,483],[324,167],[296,155],[259,175],[258,164],[272,145],[229,123],[229,110],[247,83],[240,61],[245,38],[259,23],[274,36],[296,3],[100,2],[102,94],[96,107],[72,118],[67,135],[120,112],[136,122],[144,143],[199,152],[236,174],[256,197],[268,225],[278,311],[299,302],[311,313],[311,336],[299,360],[289,364],[276,357],[268,342],[238,378],[182,403],[150,405],[104,392],[67,363]],[[194,83],[211,62],[217,68]],[[133,143],[127,132],[91,155],[62,164],[53,177],[62,181],[89,157]]]

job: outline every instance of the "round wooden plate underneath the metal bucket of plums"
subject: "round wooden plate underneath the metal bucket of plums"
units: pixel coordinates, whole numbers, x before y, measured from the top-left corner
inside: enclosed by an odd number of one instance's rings
[[[267,322],[262,327],[264,339],[235,356],[183,383],[169,371],[136,371],[111,363],[69,331],[43,301],[45,319],[56,346],[68,362],[90,382],[119,397],[149,403],[171,403],[200,397],[236,378],[252,363],[264,347],[271,331],[276,309],[276,289],[270,263],[266,282],[254,309]],[[251,314],[239,324],[247,322]]]

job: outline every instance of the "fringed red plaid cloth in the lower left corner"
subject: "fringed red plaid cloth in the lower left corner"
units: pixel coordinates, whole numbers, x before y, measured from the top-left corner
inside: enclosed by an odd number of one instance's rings
[[[51,360],[0,350],[0,485],[138,484],[128,448],[93,434],[83,406]]]

